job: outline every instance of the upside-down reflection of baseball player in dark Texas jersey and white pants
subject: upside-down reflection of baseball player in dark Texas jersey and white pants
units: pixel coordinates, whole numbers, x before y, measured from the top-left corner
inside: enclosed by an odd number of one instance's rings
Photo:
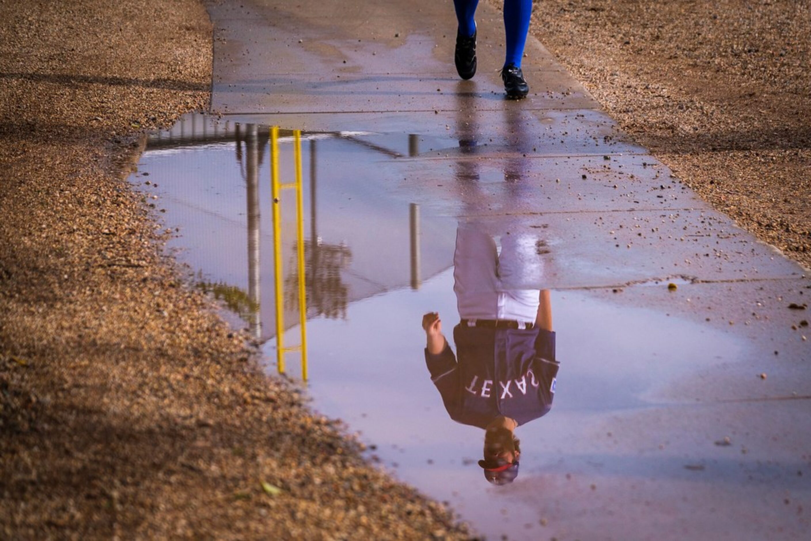
[[[425,359],[451,419],[485,429],[485,478],[512,483],[521,457],[515,429],[547,414],[560,366],[555,359],[549,290],[539,284],[543,261],[536,238],[496,239],[462,225],[453,255],[453,290],[461,321],[448,346],[437,312],[423,316]],[[536,286],[537,288],[537,286]]]

